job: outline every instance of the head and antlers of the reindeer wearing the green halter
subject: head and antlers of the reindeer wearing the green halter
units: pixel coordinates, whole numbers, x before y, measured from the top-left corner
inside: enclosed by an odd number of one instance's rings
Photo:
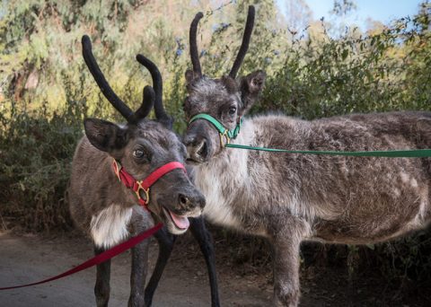
[[[234,134],[235,127],[239,127],[242,116],[250,110],[263,88],[266,75],[261,70],[236,78],[249,48],[254,14],[254,7],[250,6],[242,45],[231,72],[218,79],[202,75],[200,69],[196,33],[198,22],[203,14],[196,14],[191,22],[189,43],[193,70],[186,72],[188,96],[184,101],[184,113],[186,119],[192,121],[184,137],[184,144],[187,146],[189,160],[192,162],[207,162],[222,152],[227,134],[230,136],[228,131]],[[203,118],[195,120],[198,114],[206,114],[216,119],[220,128],[217,129],[217,124],[212,124]],[[220,131],[224,129],[225,134]]]

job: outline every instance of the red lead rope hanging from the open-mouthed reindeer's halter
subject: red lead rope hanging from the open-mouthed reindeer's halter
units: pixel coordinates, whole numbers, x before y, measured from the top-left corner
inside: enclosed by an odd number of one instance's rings
[[[82,264],[76,266],[75,268],[69,269],[68,271],[61,273],[57,276],[53,276],[53,277],[41,280],[39,282],[31,283],[31,284],[27,284],[27,285],[7,286],[4,288],[0,288],[0,291],[1,290],[8,290],[8,289],[22,288],[22,287],[31,286],[31,285],[45,284],[45,283],[48,283],[50,281],[75,274],[77,272],[84,270],[85,268],[91,268],[93,266],[101,264],[103,261],[106,261],[108,259],[111,259],[111,258],[119,255],[120,253],[122,253],[125,250],[133,248],[139,242],[144,241],[146,238],[151,237],[155,232],[157,232],[162,227],[163,227],[162,223],[156,224],[153,228],[150,228],[147,231],[142,232],[142,233],[136,235],[135,237],[130,238],[128,241],[122,242],[119,245],[114,246],[110,250],[105,250],[101,254],[93,257],[92,259],[88,259],[85,262],[83,262]]]

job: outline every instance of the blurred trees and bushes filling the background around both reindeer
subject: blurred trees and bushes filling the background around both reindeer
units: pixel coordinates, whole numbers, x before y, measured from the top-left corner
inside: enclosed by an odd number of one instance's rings
[[[312,119],[431,110],[428,1],[414,16],[375,22],[360,31],[324,20],[303,24],[300,14],[286,20],[271,0],[2,0],[0,227],[70,230],[65,193],[83,118],[121,121],[84,65],[84,34],[91,36],[95,57],[114,90],[134,109],[145,84],[151,84],[135,56],[142,53],[154,60],[163,74],[166,109],[181,133],[189,22],[198,11],[205,13],[198,31],[204,74],[223,75],[241,43],[249,4],[257,8],[257,24],[240,75],[255,69],[268,74],[252,113],[283,111]],[[354,5],[335,0],[334,18],[342,18]],[[219,229],[216,238],[230,246],[234,259],[268,264],[268,246],[259,239]],[[376,246],[317,249],[318,255],[335,253],[352,272],[361,263],[373,263],[389,278],[431,279],[429,231]]]

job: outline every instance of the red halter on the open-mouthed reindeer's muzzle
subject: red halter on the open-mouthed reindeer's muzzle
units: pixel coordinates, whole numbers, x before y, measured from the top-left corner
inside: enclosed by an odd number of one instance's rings
[[[168,172],[176,169],[181,169],[187,174],[186,168],[180,162],[169,162],[164,164],[149,174],[145,180],[136,180],[133,178],[133,176],[130,175],[128,171],[126,171],[115,159],[112,163],[112,167],[119,180],[123,182],[128,189],[132,189],[136,193],[139,205],[145,206],[145,208],[150,202],[150,187],[155,181],[159,180]],[[141,194],[139,193],[141,189],[145,192],[145,198],[141,197]]]

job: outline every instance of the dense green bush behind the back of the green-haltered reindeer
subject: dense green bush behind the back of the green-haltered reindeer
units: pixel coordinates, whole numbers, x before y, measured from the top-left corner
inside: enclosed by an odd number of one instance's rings
[[[285,49],[284,65],[269,76],[254,111],[283,110],[311,119],[430,110],[431,39],[426,22],[429,14],[393,22],[379,33],[347,31],[339,39],[327,34],[324,23],[315,25],[308,39],[294,37]]]

